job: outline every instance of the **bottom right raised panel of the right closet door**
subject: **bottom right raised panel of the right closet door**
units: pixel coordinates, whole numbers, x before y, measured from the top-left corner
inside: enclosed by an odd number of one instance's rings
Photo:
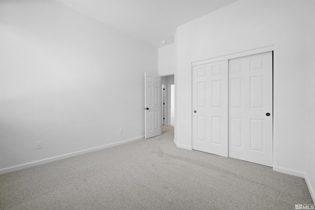
[[[264,120],[251,119],[251,150],[264,151]]]

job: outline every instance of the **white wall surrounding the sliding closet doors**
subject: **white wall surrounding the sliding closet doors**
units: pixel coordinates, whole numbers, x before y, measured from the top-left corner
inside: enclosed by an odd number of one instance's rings
[[[307,9],[312,7],[313,9]],[[191,149],[191,62],[275,45],[274,51],[274,170],[304,176],[311,158],[314,187],[314,130],[306,141],[306,101],[314,99],[314,56],[306,59],[306,31],[313,31],[314,1],[237,1],[178,27],[175,35],[175,143]],[[309,34],[308,40],[311,38]],[[308,52],[314,54],[314,44]],[[312,60],[312,61],[311,61]],[[309,65],[309,71],[306,70]],[[313,69],[312,69],[313,68]],[[306,73],[313,90],[306,96]],[[309,107],[314,129],[314,106]]]

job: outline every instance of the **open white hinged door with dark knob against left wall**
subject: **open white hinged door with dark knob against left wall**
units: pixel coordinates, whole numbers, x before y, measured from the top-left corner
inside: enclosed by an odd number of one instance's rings
[[[161,77],[144,74],[145,77],[145,132],[144,138],[162,133],[161,129]]]

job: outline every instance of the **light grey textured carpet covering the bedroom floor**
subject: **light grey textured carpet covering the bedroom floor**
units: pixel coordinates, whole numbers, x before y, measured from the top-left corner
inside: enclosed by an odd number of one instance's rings
[[[163,134],[0,175],[1,210],[294,210],[302,178],[176,148]]]

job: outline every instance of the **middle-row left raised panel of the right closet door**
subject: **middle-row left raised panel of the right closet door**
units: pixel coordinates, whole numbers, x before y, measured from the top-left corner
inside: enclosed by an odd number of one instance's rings
[[[231,108],[242,108],[242,79],[230,80],[230,106]]]

